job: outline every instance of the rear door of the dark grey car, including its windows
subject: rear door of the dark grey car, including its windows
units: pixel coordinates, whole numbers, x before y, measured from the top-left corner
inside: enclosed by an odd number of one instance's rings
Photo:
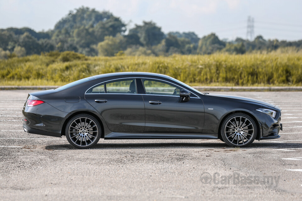
[[[118,133],[143,133],[145,106],[137,94],[136,79],[118,79],[90,88],[85,99],[104,118],[109,130]]]

